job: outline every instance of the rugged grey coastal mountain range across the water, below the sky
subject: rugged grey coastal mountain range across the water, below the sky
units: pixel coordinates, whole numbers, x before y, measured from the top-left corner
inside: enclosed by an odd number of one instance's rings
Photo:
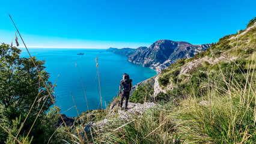
[[[150,47],[109,48],[110,52],[128,57],[128,61],[162,71],[179,58],[191,58],[210,47],[210,44],[193,45],[185,41],[158,40]]]

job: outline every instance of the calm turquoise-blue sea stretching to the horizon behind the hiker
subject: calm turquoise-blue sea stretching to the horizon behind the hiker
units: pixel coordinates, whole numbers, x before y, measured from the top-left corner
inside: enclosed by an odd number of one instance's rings
[[[78,68],[84,82],[89,109],[101,109],[96,56],[98,56],[99,60],[103,108],[106,108],[109,101],[117,96],[123,73],[130,75],[133,85],[157,74],[156,71],[150,68],[133,64],[127,61],[125,56],[107,52],[106,49],[29,48],[29,52],[31,56],[35,56],[39,60],[45,60],[44,66],[46,71],[50,73],[50,81],[52,83],[55,82],[59,75],[55,88],[56,104],[61,108],[61,113],[67,116],[78,115],[70,92],[73,94],[79,113],[87,111],[84,89]],[[78,53],[84,53],[84,55],[78,55]],[[20,56],[29,57],[26,49],[22,49]],[[78,64],[77,66],[76,63]]]

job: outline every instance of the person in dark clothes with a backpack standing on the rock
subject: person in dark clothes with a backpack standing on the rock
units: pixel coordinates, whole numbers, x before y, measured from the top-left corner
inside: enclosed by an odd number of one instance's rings
[[[121,93],[121,100],[120,100],[120,108],[121,109],[123,109],[124,97],[126,97],[126,103],[124,105],[124,109],[127,109],[131,88],[132,88],[132,79],[130,79],[128,74],[124,73],[123,79],[120,82],[120,88],[119,88],[119,93]]]

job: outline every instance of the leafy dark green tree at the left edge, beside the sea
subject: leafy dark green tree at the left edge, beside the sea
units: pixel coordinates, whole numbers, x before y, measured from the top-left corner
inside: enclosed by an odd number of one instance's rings
[[[14,127],[19,129],[31,109],[22,131],[20,131],[20,137],[18,137],[22,139],[22,136],[26,136],[28,133],[42,107],[29,137],[34,137],[32,143],[45,143],[44,140],[47,140],[47,137],[49,139],[54,131],[54,124],[46,124],[46,112],[52,105],[52,101],[47,95],[50,92],[55,99],[54,86],[49,81],[49,73],[44,70],[44,61],[39,61],[35,57],[32,59],[20,58],[20,52],[20,49],[8,44],[2,43],[0,46],[0,123],[9,130]],[[34,67],[32,61],[37,68]],[[47,92],[43,81],[49,92]],[[16,121],[15,125],[13,125],[14,121]],[[8,134],[0,131],[0,143],[7,142]],[[17,131],[15,130],[12,134],[16,136]],[[10,138],[8,139],[11,141]]]

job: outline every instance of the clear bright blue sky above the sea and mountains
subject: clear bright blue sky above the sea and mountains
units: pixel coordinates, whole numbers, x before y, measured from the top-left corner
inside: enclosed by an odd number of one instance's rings
[[[212,43],[245,29],[255,7],[255,0],[1,1],[0,42],[10,44],[15,35],[10,13],[28,47],[136,48],[162,39]]]

